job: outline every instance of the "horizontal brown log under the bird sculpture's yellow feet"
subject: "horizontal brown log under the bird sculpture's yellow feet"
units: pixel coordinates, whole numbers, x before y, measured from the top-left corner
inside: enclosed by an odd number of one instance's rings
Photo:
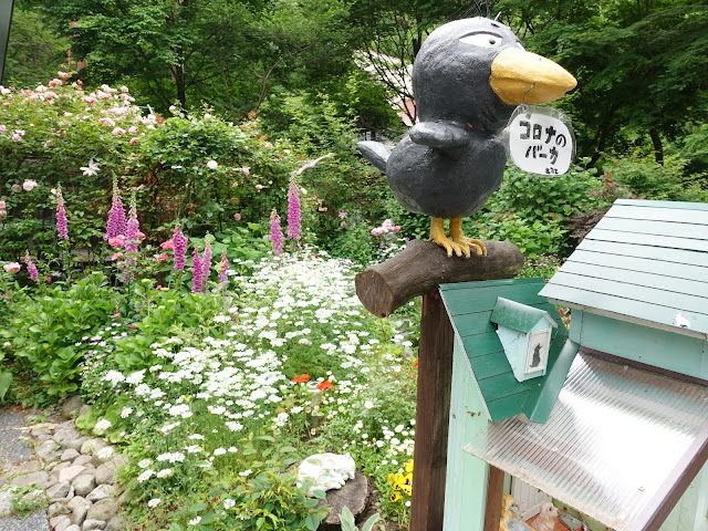
[[[358,273],[356,294],[364,308],[387,317],[414,296],[439,284],[473,280],[511,279],[523,267],[523,254],[508,241],[485,241],[488,256],[447,257],[433,241],[413,240],[403,252]]]

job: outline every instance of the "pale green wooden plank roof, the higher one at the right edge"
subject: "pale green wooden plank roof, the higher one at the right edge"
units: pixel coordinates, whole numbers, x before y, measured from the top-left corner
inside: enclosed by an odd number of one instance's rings
[[[708,205],[618,199],[541,295],[705,339]]]

